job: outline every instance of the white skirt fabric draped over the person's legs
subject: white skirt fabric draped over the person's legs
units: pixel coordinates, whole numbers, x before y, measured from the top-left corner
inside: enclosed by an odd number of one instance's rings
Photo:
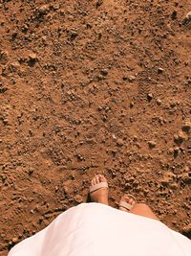
[[[9,256],[190,256],[191,242],[160,221],[82,203],[15,245]]]

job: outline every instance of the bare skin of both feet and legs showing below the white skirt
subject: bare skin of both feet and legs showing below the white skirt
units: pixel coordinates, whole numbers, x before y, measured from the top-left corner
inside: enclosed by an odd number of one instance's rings
[[[107,179],[103,175],[96,175],[93,178],[91,185],[92,187],[97,186],[97,189],[90,193],[90,197],[93,202],[98,202],[98,203],[103,203],[108,205],[108,188],[107,187],[98,188],[99,184],[101,183],[104,184],[106,182],[107,182]],[[123,206],[119,206],[119,210],[159,221],[159,218],[154,214],[154,212],[151,210],[151,208],[147,204],[137,203],[134,198],[131,198],[128,195],[123,195],[121,200],[131,205],[131,209],[128,210]]]

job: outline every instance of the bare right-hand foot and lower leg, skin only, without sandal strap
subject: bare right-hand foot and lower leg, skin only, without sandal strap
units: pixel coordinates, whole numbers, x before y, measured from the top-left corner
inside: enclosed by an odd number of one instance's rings
[[[122,196],[121,200],[131,204],[132,209],[129,211],[126,208],[119,206],[119,210],[159,221],[159,218],[154,214],[154,212],[147,204],[136,203],[133,198],[129,198],[126,195]]]

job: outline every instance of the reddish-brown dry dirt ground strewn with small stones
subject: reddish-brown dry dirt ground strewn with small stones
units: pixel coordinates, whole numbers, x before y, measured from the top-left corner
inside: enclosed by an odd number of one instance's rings
[[[1,256],[97,173],[190,238],[190,134],[190,1],[0,1]]]

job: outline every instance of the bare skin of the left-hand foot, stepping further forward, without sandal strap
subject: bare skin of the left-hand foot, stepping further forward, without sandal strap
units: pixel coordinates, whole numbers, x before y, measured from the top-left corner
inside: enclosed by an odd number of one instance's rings
[[[103,175],[96,175],[91,181],[91,185],[94,186],[100,182],[107,182],[107,179]],[[92,201],[99,202],[108,205],[108,189],[100,188],[90,193]]]

